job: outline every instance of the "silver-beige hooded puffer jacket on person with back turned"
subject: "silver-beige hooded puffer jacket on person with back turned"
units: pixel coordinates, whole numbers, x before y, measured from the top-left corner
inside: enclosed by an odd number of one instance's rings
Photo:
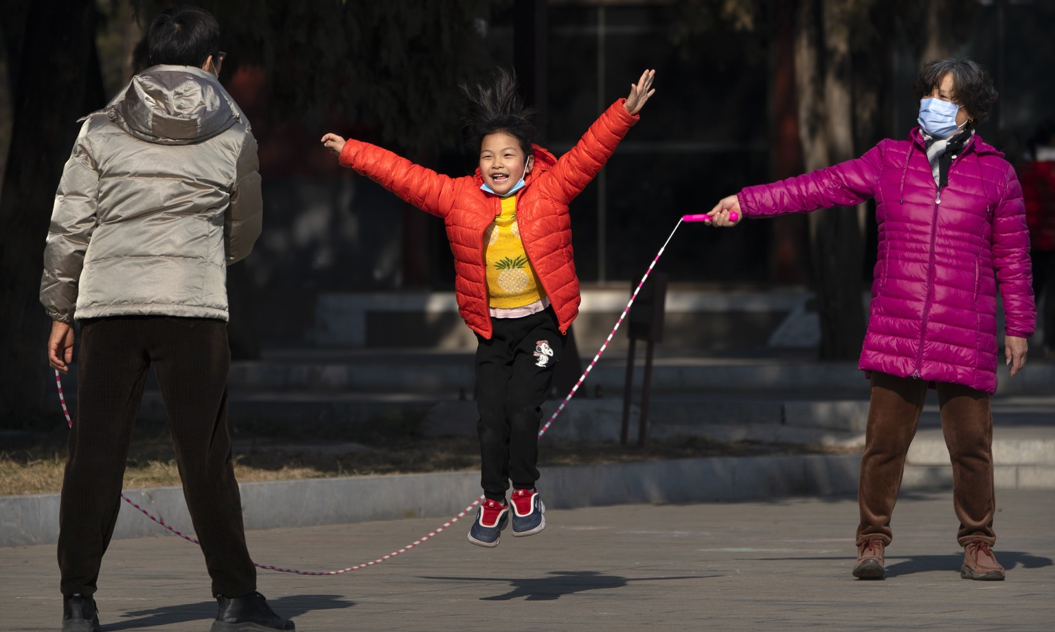
[[[155,65],[85,117],[55,194],[40,302],[56,321],[227,320],[261,232],[249,121],[212,73]]]

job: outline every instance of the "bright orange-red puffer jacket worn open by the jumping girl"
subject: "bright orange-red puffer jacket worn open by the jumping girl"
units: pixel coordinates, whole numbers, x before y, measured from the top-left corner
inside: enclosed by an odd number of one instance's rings
[[[619,99],[600,115],[582,138],[557,159],[535,147],[535,166],[517,193],[517,225],[528,258],[542,282],[560,330],[567,332],[579,312],[579,280],[572,252],[568,205],[600,171],[639,116]],[[419,209],[443,218],[455,255],[458,311],[469,329],[491,338],[483,231],[502,212],[498,196],[480,189],[480,171],[452,178],[368,142],[349,139],[340,162],[369,177]]]

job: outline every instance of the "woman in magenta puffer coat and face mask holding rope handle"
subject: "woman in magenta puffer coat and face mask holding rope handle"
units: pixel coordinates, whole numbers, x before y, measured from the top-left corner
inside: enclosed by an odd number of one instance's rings
[[[851,206],[876,198],[879,252],[860,367],[871,402],[861,459],[853,575],[885,576],[890,514],[928,384],[936,386],[953,463],[953,505],[964,548],[960,575],[1003,579],[993,555],[993,418],[996,293],[1011,375],[1025,364],[1036,312],[1022,192],[1003,154],[982,141],[996,91],[967,59],[927,62],[913,88],[919,127],[860,158],[779,183],[748,187],[711,212],[740,218]],[[736,212],[737,222],[730,219]]]

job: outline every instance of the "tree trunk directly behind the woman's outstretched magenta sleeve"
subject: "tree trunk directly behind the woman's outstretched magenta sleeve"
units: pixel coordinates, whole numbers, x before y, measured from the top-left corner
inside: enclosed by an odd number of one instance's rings
[[[795,88],[807,171],[855,157],[849,11],[837,0],[805,0],[798,6]],[[858,212],[846,207],[816,211],[809,215],[809,231],[821,320],[820,357],[856,359],[865,322]]]

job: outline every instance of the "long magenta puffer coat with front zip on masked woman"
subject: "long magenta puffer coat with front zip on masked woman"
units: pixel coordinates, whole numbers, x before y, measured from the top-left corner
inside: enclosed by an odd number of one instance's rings
[[[749,217],[876,198],[879,255],[860,367],[996,391],[996,291],[1006,336],[1036,326],[1022,191],[976,134],[939,193],[919,129],[860,158],[737,195]]]

